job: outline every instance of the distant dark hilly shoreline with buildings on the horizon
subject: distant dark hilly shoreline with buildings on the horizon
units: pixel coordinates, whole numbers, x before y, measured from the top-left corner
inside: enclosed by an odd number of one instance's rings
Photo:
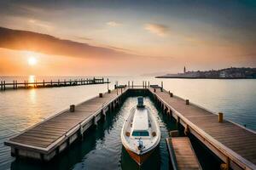
[[[242,79],[256,78],[256,68],[230,67],[218,71],[186,71],[184,73],[166,74],[156,78],[212,78],[212,79]]]

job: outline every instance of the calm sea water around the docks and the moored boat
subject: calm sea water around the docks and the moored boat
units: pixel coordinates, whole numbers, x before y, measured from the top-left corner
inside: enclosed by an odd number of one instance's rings
[[[54,80],[59,77],[0,77],[1,80],[9,82],[14,79],[23,82],[29,78],[36,78],[39,81]],[[60,79],[69,78],[78,77],[60,77]],[[149,81],[150,84],[160,84],[164,81],[164,88],[172,91],[173,94],[190,99],[211,111],[222,111],[226,119],[256,130],[256,80],[155,79],[154,77],[109,77],[109,79],[112,82],[110,88],[113,88],[115,81],[119,84],[127,84],[130,80],[139,85],[142,85],[143,81]],[[4,146],[3,141],[66,109],[71,104],[77,104],[98,93],[106,92],[107,87],[107,84],[103,84],[0,92],[0,169],[38,169],[37,163],[15,161],[10,156],[9,147]],[[72,150],[68,150],[68,153],[56,159],[51,166],[57,169],[95,169],[106,165],[112,169],[133,168],[135,166],[133,161],[122,149],[119,133],[122,122],[135,101],[134,98],[127,99],[113,117],[91,130],[86,135],[87,139],[75,144]],[[154,111],[157,111],[149,99],[147,102]],[[161,114],[158,117],[164,138],[167,131],[172,129],[172,124],[169,125]],[[164,141],[161,141],[160,151],[154,155],[154,160],[158,160],[154,161],[156,168],[168,168],[165,147]]]

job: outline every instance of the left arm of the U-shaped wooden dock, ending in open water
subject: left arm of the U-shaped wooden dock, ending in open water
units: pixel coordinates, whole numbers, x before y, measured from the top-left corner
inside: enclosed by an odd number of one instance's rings
[[[12,156],[49,161],[120,104],[127,88],[115,89],[49,117],[4,144]]]

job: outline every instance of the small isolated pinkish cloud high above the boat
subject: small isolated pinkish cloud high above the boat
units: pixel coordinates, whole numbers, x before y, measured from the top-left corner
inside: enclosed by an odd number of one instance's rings
[[[168,26],[160,24],[145,24],[144,29],[160,37],[166,37],[169,32]]]

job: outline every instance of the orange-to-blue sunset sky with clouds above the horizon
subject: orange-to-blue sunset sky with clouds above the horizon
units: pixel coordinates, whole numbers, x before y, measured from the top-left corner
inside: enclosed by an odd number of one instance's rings
[[[256,67],[253,0],[7,0],[0,18],[0,75]]]

